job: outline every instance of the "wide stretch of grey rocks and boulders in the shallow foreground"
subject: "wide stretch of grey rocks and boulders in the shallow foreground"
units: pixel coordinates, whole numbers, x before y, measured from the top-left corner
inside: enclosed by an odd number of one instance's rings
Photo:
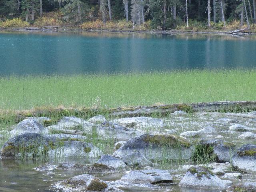
[[[0,140],[5,141],[1,160],[44,159],[46,163],[34,168],[42,173],[79,170],[82,174],[51,186],[64,191],[122,192],[138,185],[142,191],[151,186],[256,191],[256,111],[212,112],[213,106],[218,111],[224,104],[191,104],[187,111],[187,106],[178,110],[178,105],[146,108],[168,110],[168,115],[160,117],[135,116],[141,110],[138,107],[121,111],[130,117],[64,116],[50,125],[49,117],[25,117],[1,130]],[[239,104],[255,107],[255,102]],[[120,115],[120,111],[113,113]],[[116,173],[120,176],[111,181],[98,177]]]

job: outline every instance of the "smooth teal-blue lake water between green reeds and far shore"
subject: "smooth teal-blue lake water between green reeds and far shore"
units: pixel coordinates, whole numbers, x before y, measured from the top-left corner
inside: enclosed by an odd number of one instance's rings
[[[0,32],[0,75],[254,68],[255,52],[255,37]]]

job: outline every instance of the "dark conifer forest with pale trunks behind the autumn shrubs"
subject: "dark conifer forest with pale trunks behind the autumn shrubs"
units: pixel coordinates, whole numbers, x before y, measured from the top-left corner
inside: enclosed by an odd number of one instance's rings
[[[211,26],[232,20],[256,23],[256,0],[0,0],[2,20],[23,18],[33,23],[47,12],[60,10],[62,19],[81,23],[101,19],[127,20],[154,28],[175,28],[188,21]]]

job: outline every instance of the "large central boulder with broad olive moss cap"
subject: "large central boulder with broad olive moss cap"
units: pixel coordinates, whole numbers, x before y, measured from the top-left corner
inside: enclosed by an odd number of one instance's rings
[[[176,135],[144,134],[129,140],[113,156],[121,158],[139,151],[149,160],[186,160],[192,153],[190,142]]]

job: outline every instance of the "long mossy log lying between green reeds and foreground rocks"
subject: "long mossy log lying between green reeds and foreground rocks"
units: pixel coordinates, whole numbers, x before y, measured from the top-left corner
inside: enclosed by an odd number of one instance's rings
[[[44,116],[45,114],[84,114],[94,116],[97,114],[108,114],[112,118],[133,117],[133,116],[152,116],[160,114],[166,116],[178,110],[187,112],[221,112],[239,113],[256,110],[256,101],[224,101],[224,102],[203,102],[192,104],[169,104],[158,106],[136,106],[125,108],[39,108],[24,111],[15,111],[17,116]],[[2,112],[6,113],[6,112]],[[9,112],[10,113],[10,112]]]

